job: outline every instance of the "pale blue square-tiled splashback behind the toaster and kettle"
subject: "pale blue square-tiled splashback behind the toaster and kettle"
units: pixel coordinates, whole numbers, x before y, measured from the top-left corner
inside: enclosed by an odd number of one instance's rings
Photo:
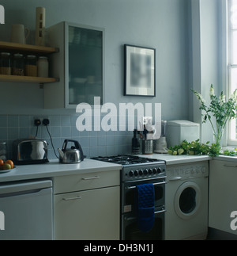
[[[0,115],[0,142],[7,143],[7,157],[12,158],[12,143],[14,139],[36,136],[35,117],[39,115]],[[51,115],[44,116],[50,120],[48,130],[58,155],[57,148],[62,148],[64,139],[79,141],[87,158],[98,155],[118,155],[131,151],[133,132],[79,132],[76,128],[77,116],[75,115]],[[93,129],[92,129],[93,130]],[[48,146],[48,159],[56,159],[51,146],[51,139],[47,128],[41,124],[37,133],[38,139],[45,139]]]

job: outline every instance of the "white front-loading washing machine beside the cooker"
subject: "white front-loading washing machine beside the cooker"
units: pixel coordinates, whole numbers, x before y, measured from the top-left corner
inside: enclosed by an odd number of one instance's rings
[[[165,239],[206,239],[209,162],[167,165]]]

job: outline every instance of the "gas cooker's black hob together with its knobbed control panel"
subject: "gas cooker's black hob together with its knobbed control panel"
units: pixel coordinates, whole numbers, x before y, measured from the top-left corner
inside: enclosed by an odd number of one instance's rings
[[[92,159],[121,164],[122,181],[136,181],[165,176],[164,160],[143,158],[137,155],[99,156]]]

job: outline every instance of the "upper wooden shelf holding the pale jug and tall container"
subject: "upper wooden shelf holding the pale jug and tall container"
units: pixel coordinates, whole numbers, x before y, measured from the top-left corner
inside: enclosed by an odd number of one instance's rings
[[[32,44],[17,44],[11,42],[0,41],[0,48],[7,49],[11,51],[19,51],[19,52],[38,52],[38,53],[54,53],[59,52],[58,48],[47,47],[47,46],[38,46]]]

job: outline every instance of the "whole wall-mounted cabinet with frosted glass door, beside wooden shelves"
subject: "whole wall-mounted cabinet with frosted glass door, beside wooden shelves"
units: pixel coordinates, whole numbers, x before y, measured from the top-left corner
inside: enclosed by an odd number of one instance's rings
[[[66,21],[47,29],[49,43],[60,48],[51,55],[51,75],[60,78],[44,86],[45,108],[75,109],[81,102],[103,103],[104,30]]]

